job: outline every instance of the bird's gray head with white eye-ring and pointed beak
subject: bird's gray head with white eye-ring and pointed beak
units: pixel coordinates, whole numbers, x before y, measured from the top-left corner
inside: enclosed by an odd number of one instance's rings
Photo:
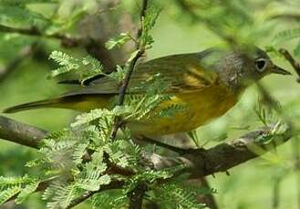
[[[291,75],[271,61],[266,53],[255,48],[252,53],[234,51],[226,53],[217,65],[220,79],[231,90],[239,91],[259,81],[265,75]]]

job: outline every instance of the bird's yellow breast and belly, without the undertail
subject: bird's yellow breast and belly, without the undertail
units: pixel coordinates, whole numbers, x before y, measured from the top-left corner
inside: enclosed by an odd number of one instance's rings
[[[174,95],[171,101],[161,104],[181,104],[184,108],[171,117],[150,116],[150,119],[129,122],[133,134],[154,136],[191,131],[213,118],[225,114],[238,101],[239,94],[231,94],[222,86],[216,85],[199,92]]]

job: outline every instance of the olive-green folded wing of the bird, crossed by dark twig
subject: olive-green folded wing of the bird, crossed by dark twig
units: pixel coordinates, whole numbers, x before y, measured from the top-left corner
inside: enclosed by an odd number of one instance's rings
[[[146,92],[153,79],[165,84],[166,93],[201,91],[212,85],[218,77],[217,72],[212,69],[213,66],[207,65],[205,61],[212,56],[212,52],[207,50],[201,53],[169,55],[141,63],[131,75],[127,92],[129,94]],[[67,95],[118,93],[118,82],[110,76],[105,76]]]

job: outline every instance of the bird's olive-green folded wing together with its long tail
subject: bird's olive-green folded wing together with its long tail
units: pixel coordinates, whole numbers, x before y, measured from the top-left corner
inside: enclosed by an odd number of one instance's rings
[[[157,78],[166,84],[162,92],[187,93],[202,91],[217,81],[213,65],[208,65],[212,51],[202,53],[169,55],[137,65],[129,80],[129,94],[143,94],[150,88],[151,79]],[[214,61],[212,62],[214,64]],[[41,108],[60,107],[78,110],[89,110],[107,106],[109,98],[119,93],[119,84],[109,76],[93,81],[87,87],[69,92],[57,98],[19,104],[5,109],[5,113]],[[101,96],[98,96],[101,95]]]

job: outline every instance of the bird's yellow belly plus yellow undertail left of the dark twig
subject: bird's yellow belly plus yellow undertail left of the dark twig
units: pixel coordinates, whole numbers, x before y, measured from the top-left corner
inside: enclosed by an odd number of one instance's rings
[[[171,104],[180,104],[183,109],[169,117],[150,114],[139,121],[127,122],[132,134],[156,136],[191,131],[213,118],[225,114],[238,101],[240,94],[232,94],[221,85],[202,88],[201,91],[176,94],[170,101],[159,105],[164,109]],[[54,104],[56,107],[88,111],[94,108],[109,108],[113,95],[88,95],[78,97],[77,101]],[[111,106],[111,105],[110,105]],[[51,107],[51,105],[49,105]]]

